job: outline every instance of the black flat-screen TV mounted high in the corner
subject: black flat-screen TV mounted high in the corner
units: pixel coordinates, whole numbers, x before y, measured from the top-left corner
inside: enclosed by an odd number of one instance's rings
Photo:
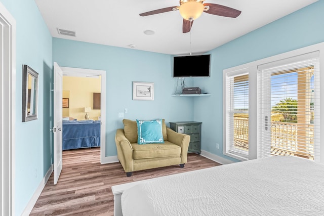
[[[210,55],[175,56],[173,77],[210,76]]]

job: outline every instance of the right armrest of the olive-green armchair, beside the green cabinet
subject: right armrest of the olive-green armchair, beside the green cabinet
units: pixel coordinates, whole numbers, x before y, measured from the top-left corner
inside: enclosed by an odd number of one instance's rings
[[[181,147],[181,163],[187,162],[188,147],[190,143],[190,136],[187,134],[180,134],[170,127],[167,127],[168,141]]]

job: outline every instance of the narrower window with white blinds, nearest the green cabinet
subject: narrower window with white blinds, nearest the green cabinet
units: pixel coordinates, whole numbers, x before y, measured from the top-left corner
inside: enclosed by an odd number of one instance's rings
[[[230,156],[249,155],[249,74],[227,73],[225,87],[225,150]]]

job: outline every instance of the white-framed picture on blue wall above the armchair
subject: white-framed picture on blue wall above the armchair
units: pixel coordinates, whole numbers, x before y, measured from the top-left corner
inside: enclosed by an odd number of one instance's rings
[[[133,81],[133,100],[153,101],[154,83]]]

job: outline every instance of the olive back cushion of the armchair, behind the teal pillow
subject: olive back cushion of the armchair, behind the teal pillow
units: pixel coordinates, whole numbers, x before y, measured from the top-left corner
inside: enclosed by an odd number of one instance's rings
[[[137,123],[136,121],[132,121],[129,119],[123,119],[124,123],[124,133],[125,137],[130,141],[130,143],[136,143],[137,142]],[[168,141],[168,135],[167,135],[167,126],[165,119],[162,119],[162,135],[164,141]]]

